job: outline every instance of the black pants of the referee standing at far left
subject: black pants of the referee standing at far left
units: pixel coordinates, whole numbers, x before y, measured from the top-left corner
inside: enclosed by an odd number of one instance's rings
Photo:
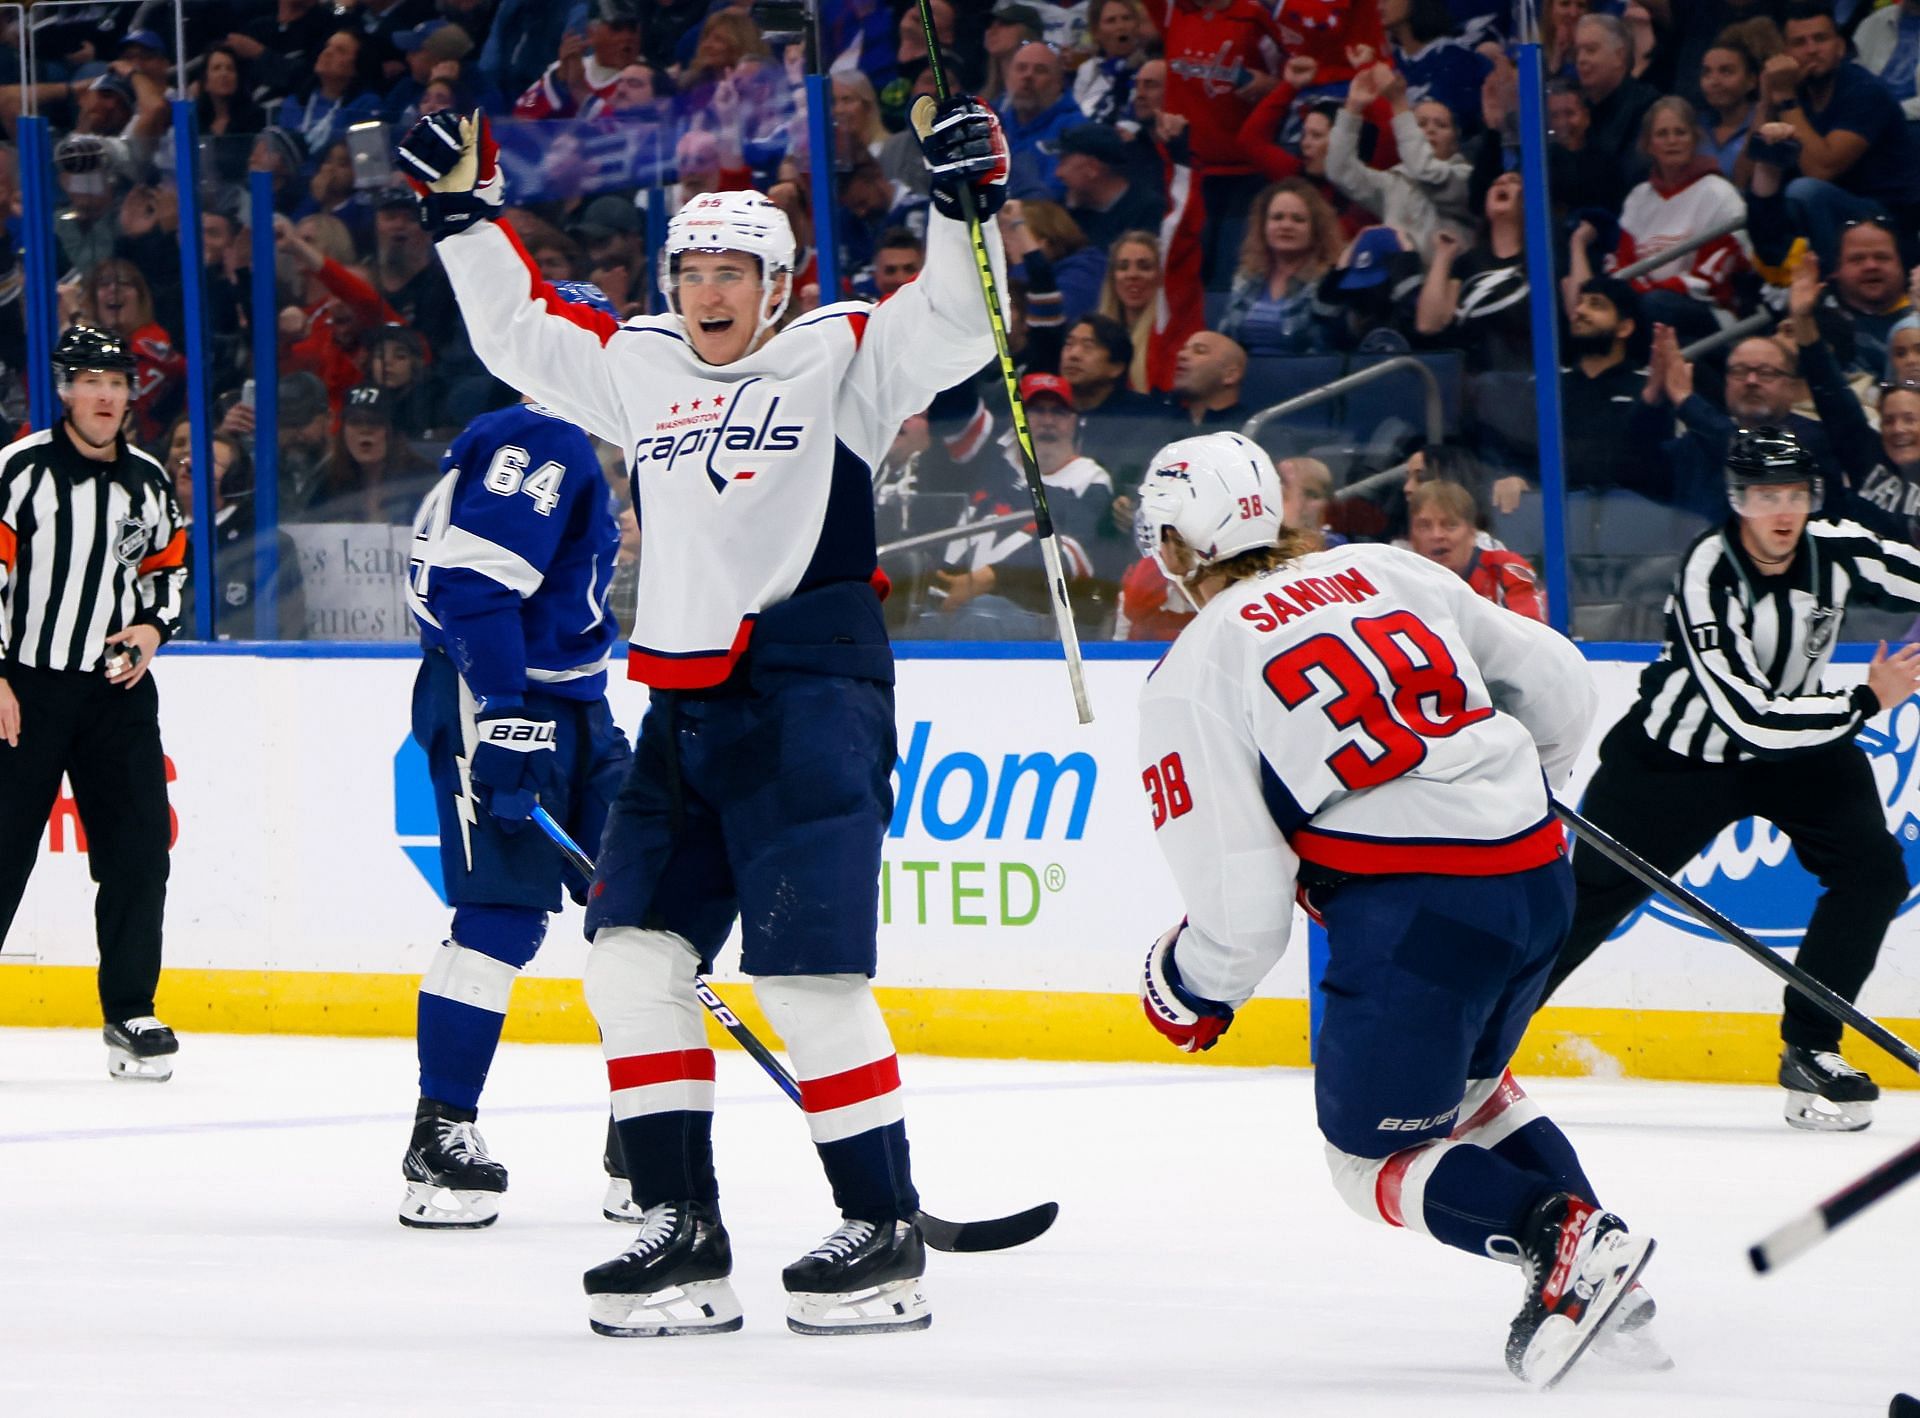
[[[0,940],[13,929],[65,773],[86,829],[86,865],[100,883],[102,1017],[150,1015],[169,840],[154,675],[119,689],[100,672],[8,666],[6,679],[19,700],[19,748],[0,741]]]

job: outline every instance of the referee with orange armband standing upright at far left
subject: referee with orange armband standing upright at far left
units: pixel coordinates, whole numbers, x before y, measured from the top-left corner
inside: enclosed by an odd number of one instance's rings
[[[186,530],[165,470],[123,432],[134,361],[73,326],[54,351],[63,418],[0,449],[0,938],[61,773],[100,894],[108,1071],[167,1078],[154,1017],[167,902],[167,775],[154,652],[179,629]]]

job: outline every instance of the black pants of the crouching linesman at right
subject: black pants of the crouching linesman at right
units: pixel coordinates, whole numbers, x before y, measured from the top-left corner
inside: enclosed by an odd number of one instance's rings
[[[1791,758],[1697,764],[1622,720],[1599,746],[1599,771],[1588,783],[1580,814],[1667,875],[1730,823],[1743,817],[1774,823],[1822,888],[1801,940],[1799,967],[1849,1002],[1866,984],[1887,925],[1907,900],[1907,863],[1887,833],[1866,754],[1851,739]],[[1572,854],[1572,877],[1578,888],[1572,927],[1542,1004],[1649,894],[1584,842]],[[1837,1050],[1839,1021],[1788,990],[1780,1038],[1799,1048]]]

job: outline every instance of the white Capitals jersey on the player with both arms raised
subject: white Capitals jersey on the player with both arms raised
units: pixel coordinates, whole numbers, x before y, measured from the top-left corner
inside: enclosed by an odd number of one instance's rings
[[[764,666],[891,679],[872,468],[993,357],[964,225],[931,217],[925,269],[883,305],[808,311],[726,366],[680,317],[559,299],[503,223],[436,249],[486,366],[626,451],[647,528],[628,674],[718,685],[751,641]]]

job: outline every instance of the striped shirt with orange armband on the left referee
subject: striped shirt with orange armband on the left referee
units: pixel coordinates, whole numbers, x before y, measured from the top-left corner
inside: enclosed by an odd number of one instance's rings
[[[186,528],[167,472],[121,439],[100,462],[65,422],[0,449],[0,670],[98,670],[106,637],[180,627]]]

